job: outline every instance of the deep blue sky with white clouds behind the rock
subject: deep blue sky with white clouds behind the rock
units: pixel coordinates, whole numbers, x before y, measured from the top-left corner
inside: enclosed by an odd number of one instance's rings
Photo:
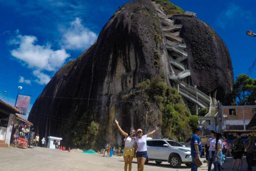
[[[14,105],[20,94],[31,95],[30,108],[53,77],[70,59],[95,42],[122,0],[9,0],[0,3],[0,99]],[[226,44],[234,77],[247,74],[256,59],[256,1],[172,0],[196,13]],[[256,78],[256,68],[250,73]],[[25,117],[27,118],[27,117]]]

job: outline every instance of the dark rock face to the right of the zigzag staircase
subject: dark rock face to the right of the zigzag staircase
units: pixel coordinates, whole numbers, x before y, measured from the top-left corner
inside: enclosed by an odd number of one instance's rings
[[[225,105],[229,104],[234,79],[226,45],[209,25],[197,18],[177,16],[173,20],[183,25],[180,36],[187,45],[193,84]]]

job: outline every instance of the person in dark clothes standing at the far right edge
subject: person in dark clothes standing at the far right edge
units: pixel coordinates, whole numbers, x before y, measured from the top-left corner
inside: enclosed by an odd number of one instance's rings
[[[244,146],[246,148],[246,162],[247,162],[247,170],[252,171],[253,158],[255,153],[255,143],[251,136],[248,137],[248,140],[245,141]]]

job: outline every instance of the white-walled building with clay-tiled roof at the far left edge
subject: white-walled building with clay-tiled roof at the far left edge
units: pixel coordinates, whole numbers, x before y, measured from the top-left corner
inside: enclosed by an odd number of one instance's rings
[[[0,147],[9,147],[15,114],[21,111],[0,100]]]

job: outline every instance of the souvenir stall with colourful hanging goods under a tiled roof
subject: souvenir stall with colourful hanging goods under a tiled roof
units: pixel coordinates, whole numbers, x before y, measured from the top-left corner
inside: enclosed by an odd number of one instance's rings
[[[27,148],[29,145],[28,137],[30,127],[33,126],[33,124],[18,114],[15,116],[16,118],[13,123],[11,139],[12,145],[17,146],[18,148]]]

